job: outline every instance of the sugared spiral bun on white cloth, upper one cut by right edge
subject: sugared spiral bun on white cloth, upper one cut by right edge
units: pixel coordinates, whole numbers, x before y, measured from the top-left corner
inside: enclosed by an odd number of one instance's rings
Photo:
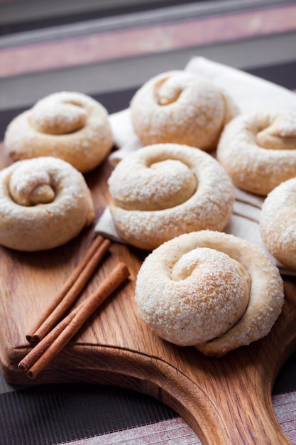
[[[236,186],[268,195],[296,176],[296,113],[241,114],[224,129],[217,159]]]

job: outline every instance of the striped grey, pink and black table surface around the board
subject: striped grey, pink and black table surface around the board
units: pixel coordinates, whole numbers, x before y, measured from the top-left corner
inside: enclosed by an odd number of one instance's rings
[[[82,8],[73,0],[64,9],[48,2],[52,9],[43,11],[37,3],[0,2],[0,139],[16,114],[50,92],[86,92],[116,112],[149,77],[182,69],[193,55],[296,90],[295,1],[160,1],[156,8],[85,0]],[[273,388],[275,415],[291,444],[295,371],[296,354]],[[13,387],[1,377],[0,445],[65,443],[201,442],[172,409],[146,395],[83,383]]]

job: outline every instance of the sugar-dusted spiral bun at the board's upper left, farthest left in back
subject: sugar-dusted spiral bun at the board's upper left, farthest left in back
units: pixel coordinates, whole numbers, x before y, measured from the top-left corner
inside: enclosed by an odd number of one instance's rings
[[[55,156],[82,173],[106,158],[113,136],[106,109],[78,92],[56,92],[11,121],[4,136],[11,161]]]

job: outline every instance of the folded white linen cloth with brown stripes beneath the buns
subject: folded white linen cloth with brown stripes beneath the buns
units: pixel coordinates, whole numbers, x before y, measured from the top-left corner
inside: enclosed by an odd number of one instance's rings
[[[294,92],[267,80],[243,73],[236,68],[206,58],[194,57],[186,65],[185,71],[203,76],[228,92],[238,105],[241,113],[264,109],[296,110],[296,95]],[[124,156],[141,148],[143,144],[133,131],[130,109],[111,114],[110,122],[114,134],[114,143],[118,149],[109,156],[109,160],[116,165]],[[258,245],[278,265],[282,274],[295,275],[295,272],[290,271],[278,262],[263,244],[259,227],[263,198],[241,191],[239,188],[235,188],[235,192],[234,213],[231,215],[231,220],[224,232],[232,233]],[[95,232],[111,240],[122,242],[116,233],[109,207],[104,210],[101,218],[99,218]]]

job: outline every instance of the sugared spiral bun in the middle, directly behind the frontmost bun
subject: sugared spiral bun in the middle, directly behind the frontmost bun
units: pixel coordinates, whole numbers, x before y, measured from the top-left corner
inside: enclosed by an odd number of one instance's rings
[[[126,156],[111,173],[109,191],[119,236],[145,250],[185,232],[224,229],[234,203],[234,187],[216,159],[178,144]]]

